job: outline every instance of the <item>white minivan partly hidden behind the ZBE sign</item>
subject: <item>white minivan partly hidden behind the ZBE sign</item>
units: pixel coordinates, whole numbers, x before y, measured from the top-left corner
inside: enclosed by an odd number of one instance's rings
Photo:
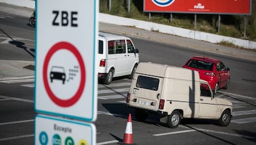
[[[126,36],[99,33],[98,78],[110,84],[113,77],[128,76],[132,79],[139,64],[139,50]]]

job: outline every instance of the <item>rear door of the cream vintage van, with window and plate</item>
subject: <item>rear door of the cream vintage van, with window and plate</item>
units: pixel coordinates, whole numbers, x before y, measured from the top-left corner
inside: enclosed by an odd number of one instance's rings
[[[157,111],[163,78],[143,74],[135,74],[135,78],[137,82],[134,81],[136,84],[132,84],[129,105]]]

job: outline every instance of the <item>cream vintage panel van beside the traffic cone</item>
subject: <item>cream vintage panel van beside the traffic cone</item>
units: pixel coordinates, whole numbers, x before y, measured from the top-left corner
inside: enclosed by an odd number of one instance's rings
[[[137,66],[126,102],[135,108],[137,120],[144,121],[149,113],[161,114],[160,122],[170,128],[183,118],[218,120],[224,127],[233,110],[231,101],[213,96],[197,71],[156,63]]]

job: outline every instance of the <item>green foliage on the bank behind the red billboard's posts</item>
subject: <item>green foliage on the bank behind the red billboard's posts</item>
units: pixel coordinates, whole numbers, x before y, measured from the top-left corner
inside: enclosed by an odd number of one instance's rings
[[[194,14],[173,14],[173,21],[170,22],[171,17],[167,13],[151,13],[149,17],[148,12],[143,12],[143,0],[130,0],[130,12],[127,10],[128,0],[110,1],[109,11],[109,0],[100,0],[101,13],[256,41],[256,0],[252,0],[252,15],[247,16],[246,37],[244,37],[244,15],[221,15],[218,33],[218,15],[197,14],[197,27],[194,28]]]

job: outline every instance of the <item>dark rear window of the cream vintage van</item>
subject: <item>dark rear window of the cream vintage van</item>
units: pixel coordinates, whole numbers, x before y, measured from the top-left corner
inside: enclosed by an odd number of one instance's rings
[[[148,90],[158,90],[159,79],[146,76],[138,76],[136,87]]]

